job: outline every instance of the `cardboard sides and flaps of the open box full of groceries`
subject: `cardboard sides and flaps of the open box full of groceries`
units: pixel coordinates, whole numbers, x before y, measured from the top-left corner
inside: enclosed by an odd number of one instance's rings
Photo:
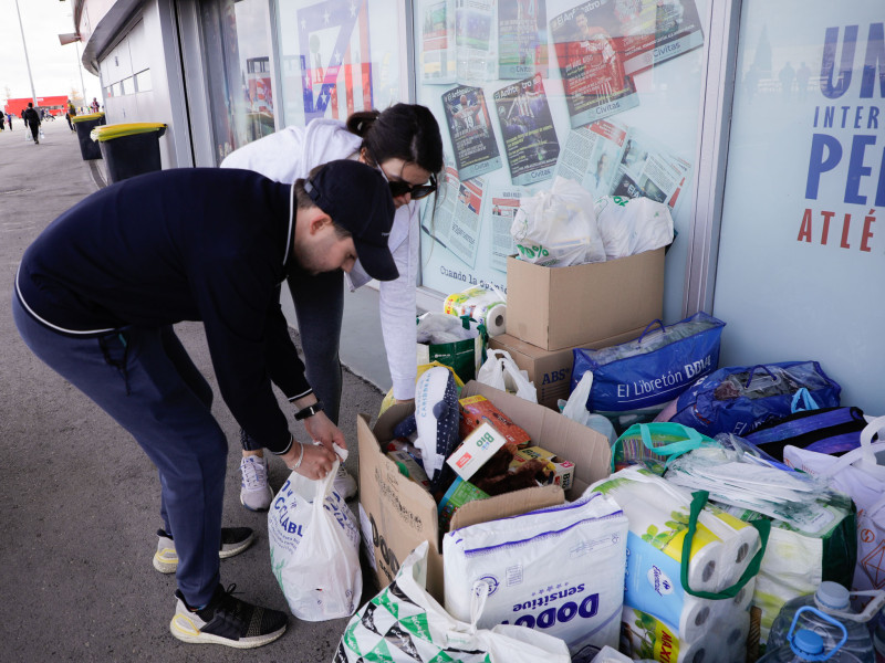
[[[575,464],[574,482],[566,493],[580,497],[590,484],[608,475],[608,440],[581,425],[511,393],[476,381],[468,382],[462,397],[481,393],[531,435],[532,441]],[[399,564],[421,541],[429,543],[427,589],[442,601],[442,549],[439,539],[437,504],[421,486],[399,473],[396,464],[381,450],[381,442],[393,436],[393,428],[414,410],[414,404],[396,404],[369,428],[368,418],[357,417],[360,444],[360,505],[366,538],[372,540],[368,558],[382,587],[396,576]],[[527,488],[470,502],[459,508],[449,525],[457,529],[477,523],[506,518],[529,511],[561,504],[560,486]]]

